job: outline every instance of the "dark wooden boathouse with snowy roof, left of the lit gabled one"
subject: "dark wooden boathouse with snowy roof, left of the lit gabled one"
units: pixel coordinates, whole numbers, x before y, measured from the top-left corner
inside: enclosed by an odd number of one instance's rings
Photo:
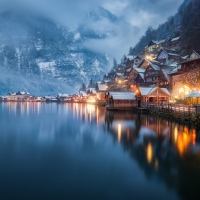
[[[108,110],[132,110],[136,107],[134,92],[108,92],[105,97]]]

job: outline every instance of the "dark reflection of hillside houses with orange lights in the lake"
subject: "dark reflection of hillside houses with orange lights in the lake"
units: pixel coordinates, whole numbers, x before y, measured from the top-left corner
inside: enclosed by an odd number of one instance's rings
[[[200,199],[200,143],[195,129],[128,112],[107,111],[105,122],[148,179],[164,181],[181,198]]]

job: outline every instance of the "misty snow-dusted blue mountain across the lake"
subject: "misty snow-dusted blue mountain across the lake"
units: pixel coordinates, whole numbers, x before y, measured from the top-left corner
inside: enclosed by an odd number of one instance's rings
[[[112,57],[106,46],[98,51],[98,42],[121,37],[119,30],[137,32],[102,7],[88,12],[83,21],[63,27],[30,13],[1,13],[0,94],[75,92],[81,83],[98,80],[110,69]]]

